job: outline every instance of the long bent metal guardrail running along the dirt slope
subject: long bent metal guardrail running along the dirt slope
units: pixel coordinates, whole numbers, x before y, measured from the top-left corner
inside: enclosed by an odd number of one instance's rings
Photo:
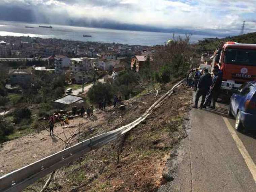
[[[100,148],[107,143],[118,139],[121,135],[130,131],[140,122],[145,120],[151,114],[153,109],[157,108],[161,102],[170,96],[173,93],[173,90],[178,87],[184,80],[185,79],[174,85],[171,90],[159,98],[153,105],[151,105],[149,109],[147,109],[147,111],[142,116],[140,116],[132,123],[77,143],[74,146],[59,151],[53,155],[45,157],[39,161],[36,161],[30,165],[0,177],[0,192],[21,191],[38,179],[46,176],[56,169],[63,167],[65,164],[78,159],[85,153],[93,149]]]

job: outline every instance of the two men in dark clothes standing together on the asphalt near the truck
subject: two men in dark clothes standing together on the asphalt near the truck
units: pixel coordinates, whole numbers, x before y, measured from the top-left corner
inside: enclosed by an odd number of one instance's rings
[[[198,108],[199,98],[202,97],[200,108],[210,107],[211,109],[215,109],[215,104],[221,89],[222,71],[219,69],[219,66],[216,65],[212,72],[214,74],[213,78],[208,69],[204,69],[203,75],[199,77],[195,88],[197,92],[193,108]]]

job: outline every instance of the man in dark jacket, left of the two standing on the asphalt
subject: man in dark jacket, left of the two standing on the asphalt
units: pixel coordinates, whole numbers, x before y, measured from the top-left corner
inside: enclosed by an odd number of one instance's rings
[[[210,86],[212,85],[212,76],[208,73],[208,69],[204,69],[204,74],[200,77],[198,82],[198,90],[196,92],[196,99],[194,108],[198,107],[199,98],[202,96],[202,101],[200,104],[200,108],[203,107],[205,97],[209,92]]]

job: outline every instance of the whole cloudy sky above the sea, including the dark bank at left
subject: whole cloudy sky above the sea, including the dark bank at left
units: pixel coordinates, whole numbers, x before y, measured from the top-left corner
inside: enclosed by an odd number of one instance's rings
[[[212,34],[256,31],[255,0],[1,0],[0,20]]]

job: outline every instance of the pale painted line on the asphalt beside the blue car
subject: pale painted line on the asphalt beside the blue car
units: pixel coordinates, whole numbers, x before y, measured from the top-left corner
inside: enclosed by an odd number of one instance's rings
[[[251,156],[249,155],[248,151],[246,150],[243,142],[238,137],[236,131],[234,130],[233,126],[230,124],[228,119],[226,117],[222,117],[222,118],[223,118],[230,134],[232,135],[237,148],[239,149],[241,155],[243,156],[245,163],[246,163],[248,169],[250,170],[252,177],[254,179],[254,182],[256,184],[256,165],[255,165],[255,163],[253,162],[253,160],[252,160]]]

